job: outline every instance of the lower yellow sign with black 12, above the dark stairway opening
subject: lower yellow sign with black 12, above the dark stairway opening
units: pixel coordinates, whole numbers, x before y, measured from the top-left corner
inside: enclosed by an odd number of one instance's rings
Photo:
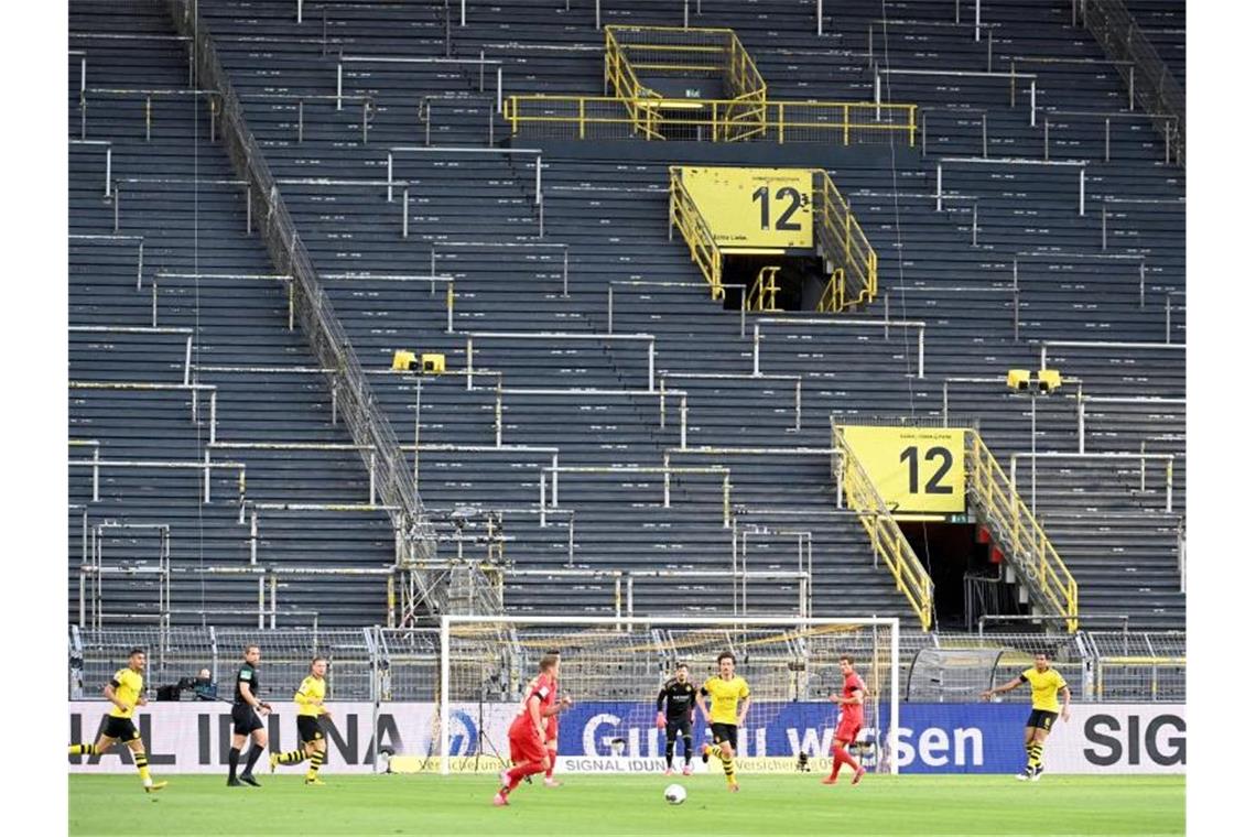
[[[892,512],[963,512],[963,430],[928,427],[840,428]],[[850,467],[849,464],[847,466]]]

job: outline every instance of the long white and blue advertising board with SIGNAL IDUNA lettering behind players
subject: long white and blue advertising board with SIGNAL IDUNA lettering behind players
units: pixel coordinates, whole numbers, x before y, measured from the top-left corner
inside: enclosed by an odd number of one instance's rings
[[[70,703],[70,740],[94,740],[108,704]],[[373,769],[373,706],[329,704],[327,773]],[[455,704],[450,709],[451,768],[457,772],[500,769],[509,757],[506,730],[519,704]],[[882,706],[880,718],[888,719]],[[902,704],[897,749],[903,773],[1015,773],[1025,763],[1024,704]],[[828,703],[761,703],[741,730],[739,769],[793,770],[799,753],[823,769],[835,729]],[[137,713],[154,773],[225,772],[231,747],[231,714],[225,703],[154,703]],[[268,719],[270,749],[296,747],[295,708],[283,705]],[[695,727],[695,753],[710,740]],[[440,762],[437,708],[431,703],[383,704],[378,713],[381,747],[397,754],[432,755]],[[863,759],[888,764],[887,735],[870,729]],[[649,773],[661,770],[663,733],[654,728],[653,704],[614,701],[577,704],[561,717],[559,763],[563,772]],[[677,764],[679,764],[679,743]],[[1186,706],[1183,704],[1081,704],[1071,719],[1058,720],[1044,754],[1051,773],[1184,773]],[[695,755],[695,767],[705,769]],[[129,752],[70,758],[72,772],[132,772]],[[280,768],[284,769],[284,768]]]

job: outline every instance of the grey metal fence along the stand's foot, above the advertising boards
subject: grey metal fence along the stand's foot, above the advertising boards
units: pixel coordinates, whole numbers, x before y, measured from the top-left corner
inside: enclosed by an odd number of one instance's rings
[[[726,634],[721,636],[727,639]],[[564,655],[569,656],[565,668],[568,685],[582,694],[602,695],[609,695],[612,685],[623,680],[624,659],[618,650],[639,651],[657,646],[654,656],[658,659],[639,660],[646,665],[642,670],[651,673],[649,676],[666,670],[667,664],[687,660],[696,653],[692,640],[678,644],[667,631],[663,631],[662,639],[614,629],[598,632],[595,637],[588,632],[573,634],[568,640],[553,629],[534,639],[530,636],[524,630],[501,641],[486,641],[482,635],[451,637],[455,668],[465,675],[451,684],[461,684],[453,689],[458,694],[452,698],[509,699],[510,684],[522,676],[522,658],[535,656],[543,648],[564,649]],[[790,646],[790,653],[808,660],[808,665],[799,670],[809,673],[809,680],[819,684],[816,689],[836,676],[830,669],[838,653],[859,659],[869,685],[877,688],[874,683],[889,681],[889,669],[894,664],[883,648],[885,641],[887,637],[875,631],[839,632],[831,637],[816,635],[798,648]],[[69,696],[103,699],[100,690],[126,665],[128,651],[142,648],[148,654],[146,681],[151,691],[177,684],[182,678],[193,678],[207,668],[219,684],[220,699],[230,700],[235,666],[242,659],[245,645],[261,649],[261,696],[273,701],[291,699],[315,655],[325,656],[330,663],[328,698],[332,700],[387,703],[440,699],[440,631],[378,626],[318,631],[156,626],[92,630],[72,626]],[[1051,656],[1053,665],[1068,680],[1076,701],[1186,700],[1186,635],[1145,631],[1078,631],[1071,635],[904,632],[897,660],[903,684],[902,698],[908,703],[973,703],[982,690],[1030,668],[1037,651]],[[771,680],[776,676],[770,673],[775,663],[767,658],[762,663],[769,668],[760,680]],[[810,686],[798,680],[795,674],[789,674],[794,670],[784,665],[779,681],[764,681],[761,688],[774,694],[780,691],[779,699],[784,700],[814,696]],[[480,685],[471,689],[467,684]],[[191,693],[185,691],[182,699],[192,699]],[[1030,693],[1029,689],[1016,689],[1006,693],[1004,699],[1025,703]]]

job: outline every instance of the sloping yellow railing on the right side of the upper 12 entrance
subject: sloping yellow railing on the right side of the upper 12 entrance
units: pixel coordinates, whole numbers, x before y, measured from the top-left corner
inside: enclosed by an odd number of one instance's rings
[[[818,168],[813,178],[815,245],[829,272],[816,310],[836,312],[867,305],[877,297],[877,251],[829,173]]]

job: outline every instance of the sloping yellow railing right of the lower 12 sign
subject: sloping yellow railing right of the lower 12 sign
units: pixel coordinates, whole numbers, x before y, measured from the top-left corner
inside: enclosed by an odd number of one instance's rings
[[[1042,614],[1064,617],[1069,632],[1076,631],[1078,582],[981,435],[976,430],[966,435],[968,508],[993,531]]]

